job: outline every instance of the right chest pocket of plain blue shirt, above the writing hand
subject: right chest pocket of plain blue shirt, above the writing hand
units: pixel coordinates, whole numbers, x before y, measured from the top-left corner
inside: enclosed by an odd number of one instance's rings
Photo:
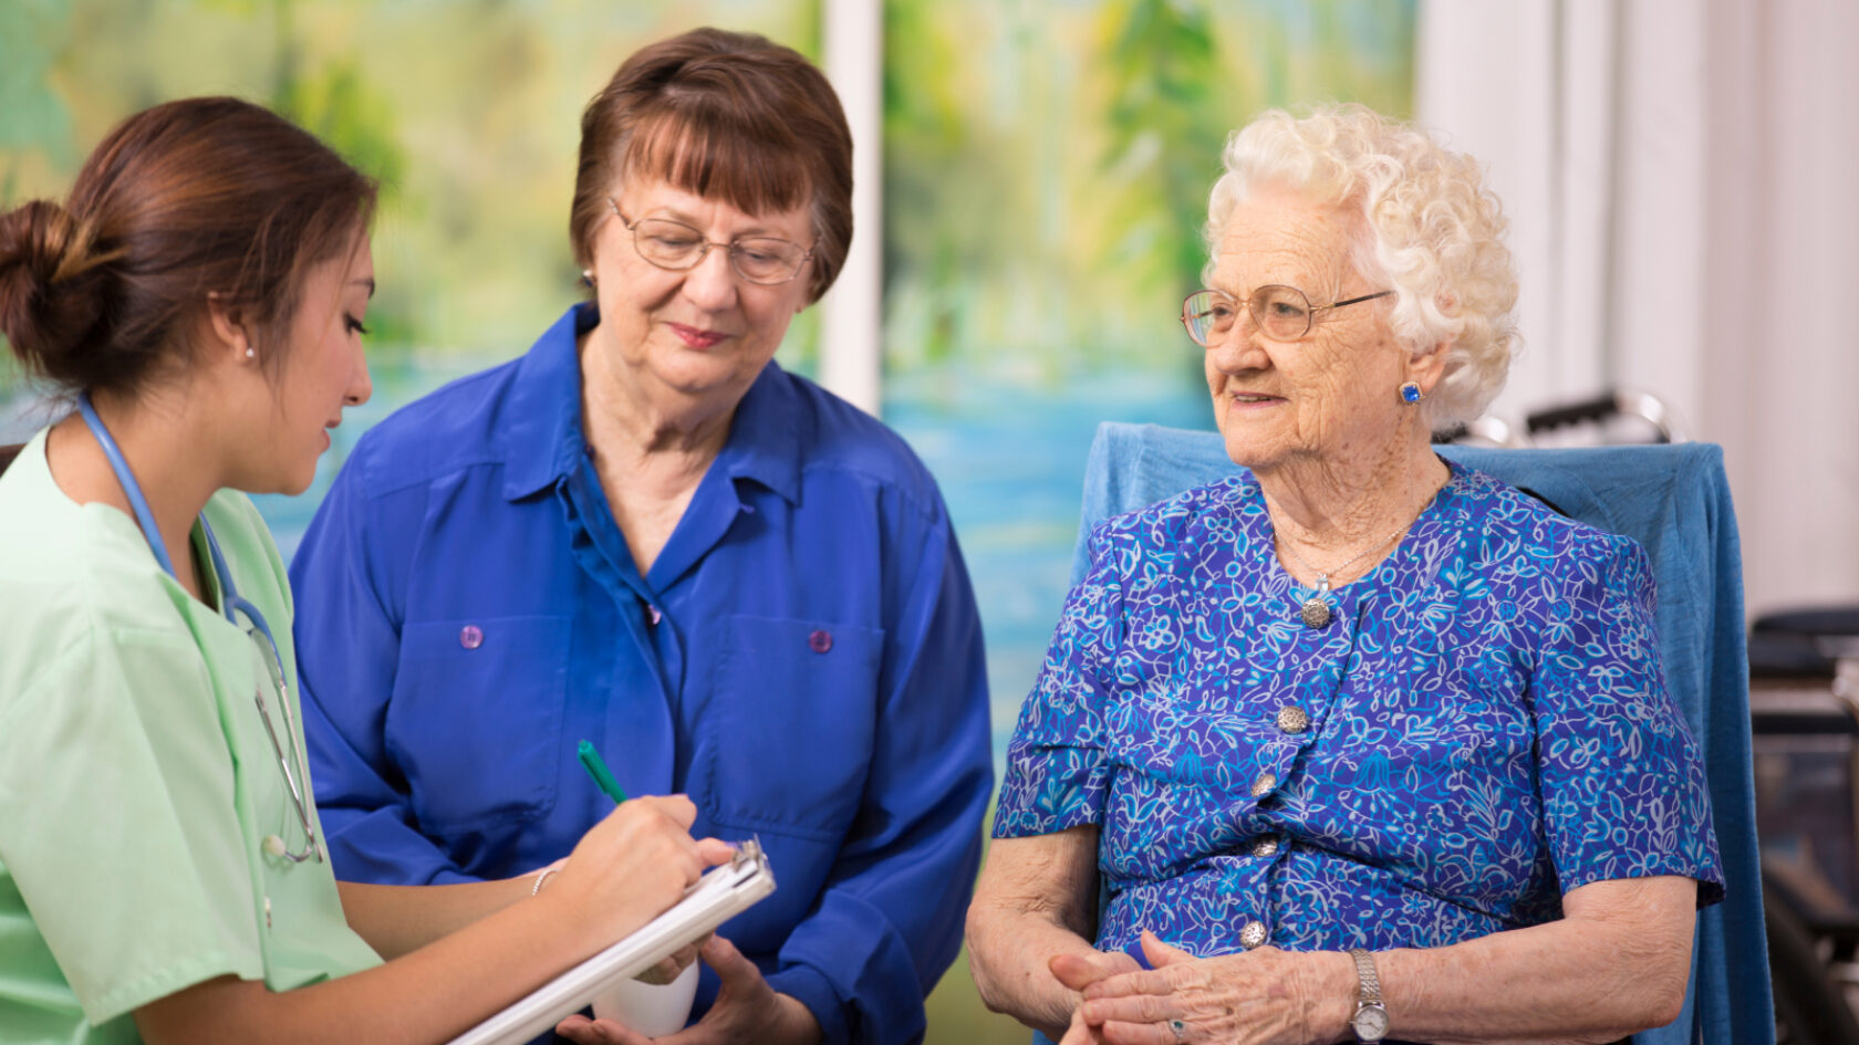
[[[872,764],[885,632],[818,619],[729,619],[699,731],[719,824],[837,840]]]

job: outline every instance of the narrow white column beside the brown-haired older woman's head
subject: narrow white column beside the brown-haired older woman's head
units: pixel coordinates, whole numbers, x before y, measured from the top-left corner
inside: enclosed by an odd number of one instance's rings
[[[883,58],[881,0],[820,0],[825,74],[851,125],[851,251],[820,299],[820,383],[877,415],[883,385]]]

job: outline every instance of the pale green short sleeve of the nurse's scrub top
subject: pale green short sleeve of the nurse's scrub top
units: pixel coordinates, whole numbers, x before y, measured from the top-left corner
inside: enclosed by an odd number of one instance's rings
[[[84,1015],[264,976],[234,768],[199,649],[93,630],[0,714],[0,863]]]

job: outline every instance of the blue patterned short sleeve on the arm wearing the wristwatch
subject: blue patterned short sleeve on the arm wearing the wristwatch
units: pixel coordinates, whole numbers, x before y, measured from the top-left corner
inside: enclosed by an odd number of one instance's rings
[[[1562,891],[1617,878],[1699,881],[1723,898],[1697,742],[1666,692],[1645,552],[1606,537],[1563,563],[1532,681],[1545,835]]]

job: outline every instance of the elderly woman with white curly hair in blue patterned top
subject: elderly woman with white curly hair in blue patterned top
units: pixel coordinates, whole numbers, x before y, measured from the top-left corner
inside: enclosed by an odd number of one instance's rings
[[[1067,1045],[1681,1010],[1721,872],[1645,554],[1428,443],[1504,379],[1500,232],[1359,106],[1231,139],[1182,324],[1246,472],[1089,537],[969,913],[991,1008]]]

